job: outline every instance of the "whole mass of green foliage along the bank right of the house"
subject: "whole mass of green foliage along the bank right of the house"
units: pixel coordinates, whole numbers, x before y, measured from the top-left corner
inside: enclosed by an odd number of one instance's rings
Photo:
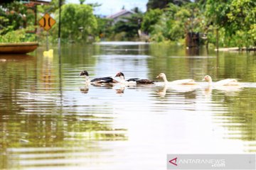
[[[207,35],[208,42],[215,44],[218,31],[220,46],[255,46],[255,28],[253,0],[198,0],[180,4],[149,0],[142,22],[142,29],[151,35],[151,40],[178,41],[186,33],[196,32]]]

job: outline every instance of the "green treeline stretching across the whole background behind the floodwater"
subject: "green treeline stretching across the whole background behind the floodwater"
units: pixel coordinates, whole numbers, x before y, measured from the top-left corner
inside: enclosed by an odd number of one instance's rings
[[[6,2],[2,0],[0,4],[2,41],[8,41],[4,36],[18,29],[33,30],[31,26],[35,21],[34,7],[19,1]],[[149,41],[182,44],[188,33],[197,33],[201,37],[201,44],[218,43],[220,47],[256,46],[255,0],[149,0],[145,13],[134,8],[131,16],[114,24],[111,19],[93,15],[93,8],[99,4],[87,5],[84,2],[80,0],[80,4],[65,4],[62,1],[63,42],[142,40],[139,37],[142,35]],[[37,6],[37,19],[48,12],[58,23],[58,4],[58,0],[53,0],[49,5]],[[49,31],[52,42],[57,40],[57,25]],[[38,29],[37,33],[38,40],[45,38],[43,30]]]

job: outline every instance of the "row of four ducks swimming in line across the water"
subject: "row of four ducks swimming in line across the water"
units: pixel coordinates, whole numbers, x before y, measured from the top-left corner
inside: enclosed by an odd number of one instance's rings
[[[156,84],[156,81],[152,81],[149,79],[139,79],[139,78],[132,78],[132,79],[124,79],[124,74],[122,72],[118,72],[115,77],[119,77],[119,81],[113,79],[112,77],[100,77],[90,80],[89,74],[87,71],[80,72],[79,76],[85,77],[85,84],[122,84],[127,86],[134,86],[137,84]],[[164,80],[165,86],[171,86],[171,85],[197,85],[198,82],[196,82],[193,79],[179,79],[175,81],[168,81],[166,78],[166,74],[160,73],[156,78],[161,78]],[[206,75],[203,78],[203,81],[207,81],[208,85],[211,86],[213,84],[212,78],[208,75]],[[214,83],[214,86],[239,86],[240,83],[237,79],[223,79],[220,81],[217,81]]]

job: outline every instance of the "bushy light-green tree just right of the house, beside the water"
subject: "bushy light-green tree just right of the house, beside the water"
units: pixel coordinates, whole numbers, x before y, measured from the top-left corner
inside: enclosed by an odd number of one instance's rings
[[[159,21],[151,26],[151,39],[178,41],[185,38],[188,32],[199,32],[201,18],[195,18],[198,15],[199,10],[193,4],[177,6],[170,3],[159,16]]]

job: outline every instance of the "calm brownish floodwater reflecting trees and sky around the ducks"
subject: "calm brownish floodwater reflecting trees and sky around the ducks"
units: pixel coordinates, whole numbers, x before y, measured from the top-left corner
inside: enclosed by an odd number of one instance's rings
[[[112,42],[0,55],[0,169],[166,169],[166,154],[256,152],[256,56]],[[199,86],[85,86],[114,77]],[[240,88],[201,80],[236,78]],[[117,79],[118,80],[118,79]],[[161,80],[159,80],[161,81]]]

